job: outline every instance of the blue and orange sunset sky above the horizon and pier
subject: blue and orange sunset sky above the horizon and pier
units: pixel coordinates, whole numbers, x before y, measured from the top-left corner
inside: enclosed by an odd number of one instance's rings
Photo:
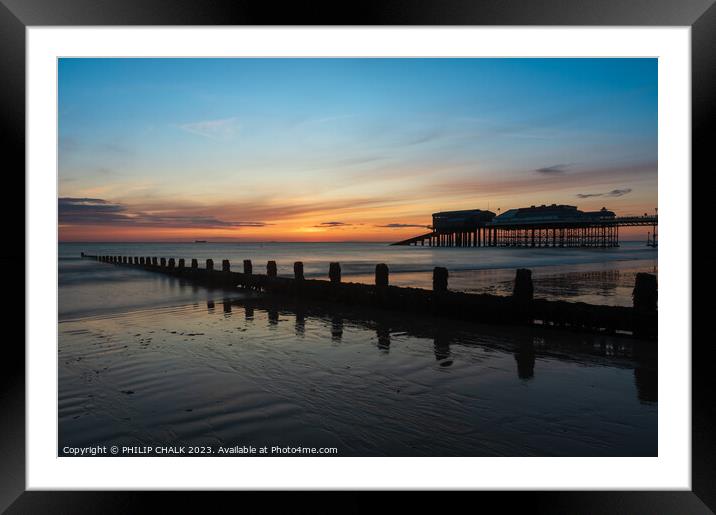
[[[60,59],[58,102],[61,241],[396,241],[443,210],[657,207],[656,59]]]

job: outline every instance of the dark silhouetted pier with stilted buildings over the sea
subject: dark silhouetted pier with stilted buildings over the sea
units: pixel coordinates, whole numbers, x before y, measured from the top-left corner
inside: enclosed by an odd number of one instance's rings
[[[652,227],[647,245],[656,247],[654,216],[617,217],[612,211],[584,212],[552,204],[510,209],[496,216],[479,209],[433,214],[432,231],[392,245],[429,247],[618,247],[619,227]]]

